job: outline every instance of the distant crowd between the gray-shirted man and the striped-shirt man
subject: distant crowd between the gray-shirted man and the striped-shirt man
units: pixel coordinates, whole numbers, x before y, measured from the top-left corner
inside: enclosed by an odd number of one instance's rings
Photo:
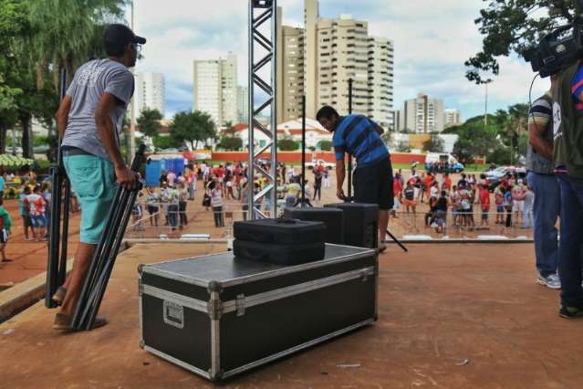
[[[260,170],[270,172],[269,163],[262,163]],[[185,167],[183,173],[162,171],[160,186],[146,186],[139,196],[133,209],[133,228],[140,231],[144,219],[152,227],[169,226],[172,231],[182,229],[188,225],[188,201],[195,200],[197,183],[202,181],[203,209],[213,212],[214,226],[224,227],[227,205],[240,209],[242,218],[248,217],[249,180],[247,178],[246,163],[191,163]],[[322,164],[318,163],[309,174],[313,180],[306,180],[304,190],[306,203],[321,201],[322,189],[331,188],[330,173]],[[279,163],[276,168],[277,193],[276,199],[280,205],[296,206],[302,202],[302,173],[297,166]],[[257,195],[265,190],[268,180],[265,174],[257,173],[254,176],[253,193]],[[265,193],[259,209],[266,215],[271,206],[271,194]],[[231,209],[231,211],[233,211]],[[147,212],[147,216],[146,216]],[[232,214],[230,212],[229,214]],[[164,217],[163,224],[160,218]]]

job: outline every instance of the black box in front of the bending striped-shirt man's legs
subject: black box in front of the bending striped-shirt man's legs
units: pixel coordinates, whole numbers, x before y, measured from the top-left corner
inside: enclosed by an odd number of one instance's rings
[[[344,212],[344,244],[355,247],[379,247],[379,205],[361,203],[327,204]]]

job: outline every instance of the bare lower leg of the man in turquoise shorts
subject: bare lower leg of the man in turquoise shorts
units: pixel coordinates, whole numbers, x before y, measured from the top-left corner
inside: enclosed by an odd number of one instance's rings
[[[83,289],[83,282],[96,248],[97,245],[79,243],[73,269],[64,285],[67,288],[67,295],[65,295],[65,300],[63,300],[63,305],[61,306],[61,313],[68,316],[72,316],[75,313],[79,295],[81,294],[81,289]]]

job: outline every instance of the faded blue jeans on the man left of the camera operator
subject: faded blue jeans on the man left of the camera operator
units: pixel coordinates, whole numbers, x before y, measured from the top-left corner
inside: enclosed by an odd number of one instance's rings
[[[543,277],[557,273],[558,242],[557,217],[561,208],[561,195],[555,175],[529,172],[528,186],[535,192],[535,255],[536,269]]]

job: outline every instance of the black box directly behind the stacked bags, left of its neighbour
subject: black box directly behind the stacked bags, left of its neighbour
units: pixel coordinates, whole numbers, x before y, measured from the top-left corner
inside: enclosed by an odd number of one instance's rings
[[[284,218],[324,222],[327,243],[344,244],[344,212],[339,208],[296,208],[287,207]]]

